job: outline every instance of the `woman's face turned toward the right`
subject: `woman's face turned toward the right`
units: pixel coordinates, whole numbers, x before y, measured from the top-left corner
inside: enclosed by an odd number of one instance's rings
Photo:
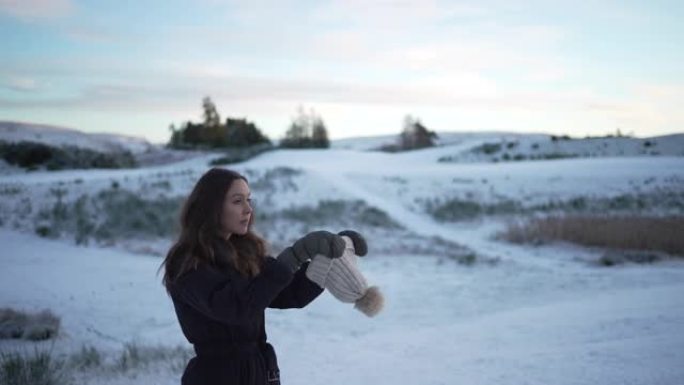
[[[221,227],[226,238],[231,234],[246,234],[252,216],[249,186],[242,179],[236,179],[223,199]]]

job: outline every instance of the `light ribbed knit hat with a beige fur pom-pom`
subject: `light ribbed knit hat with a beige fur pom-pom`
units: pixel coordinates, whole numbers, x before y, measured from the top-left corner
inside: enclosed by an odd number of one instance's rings
[[[366,278],[358,268],[358,256],[351,238],[342,236],[346,247],[340,258],[316,255],[306,269],[306,276],[319,286],[328,289],[338,300],[354,303],[363,314],[373,317],[384,305],[384,297],[377,286],[368,287]]]

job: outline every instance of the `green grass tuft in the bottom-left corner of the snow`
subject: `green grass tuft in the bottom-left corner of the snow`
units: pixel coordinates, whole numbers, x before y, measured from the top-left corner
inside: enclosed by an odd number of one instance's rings
[[[65,382],[64,363],[49,351],[35,351],[29,356],[17,352],[0,354],[0,384],[63,385]]]

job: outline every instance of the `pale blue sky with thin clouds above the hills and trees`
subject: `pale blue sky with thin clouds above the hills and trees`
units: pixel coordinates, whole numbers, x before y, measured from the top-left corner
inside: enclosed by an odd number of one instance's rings
[[[0,0],[0,120],[168,140],[297,107],[333,138],[684,131],[682,1]]]

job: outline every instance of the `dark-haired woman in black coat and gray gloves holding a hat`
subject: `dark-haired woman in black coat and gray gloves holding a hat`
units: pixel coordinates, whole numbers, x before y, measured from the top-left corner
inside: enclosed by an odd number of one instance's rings
[[[196,353],[184,385],[279,384],[264,310],[309,304],[323,289],[306,277],[307,260],[344,251],[339,235],[317,231],[277,259],[266,256],[264,240],[251,230],[253,213],[247,180],[226,169],[206,172],[185,202],[180,237],[162,264],[164,285]]]

